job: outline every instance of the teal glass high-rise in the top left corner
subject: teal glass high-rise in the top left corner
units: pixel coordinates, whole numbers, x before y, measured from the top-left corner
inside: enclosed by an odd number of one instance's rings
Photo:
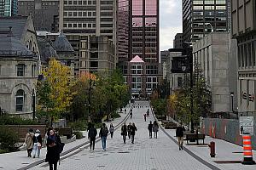
[[[18,0],[0,0],[0,16],[16,16]]]

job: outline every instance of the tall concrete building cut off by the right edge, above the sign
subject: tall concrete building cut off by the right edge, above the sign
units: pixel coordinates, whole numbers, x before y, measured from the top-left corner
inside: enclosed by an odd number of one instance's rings
[[[256,110],[256,2],[232,0],[232,35],[237,39],[238,111]],[[234,96],[236,98],[236,96]]]

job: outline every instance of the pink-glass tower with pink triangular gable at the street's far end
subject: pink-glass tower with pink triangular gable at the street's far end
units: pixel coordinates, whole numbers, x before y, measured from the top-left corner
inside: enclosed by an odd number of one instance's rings
[[[123,0],[119,0],[119,2]],[[126,1],[127,2],[127,1]],[[126,83],[135,97],[146,97],[157,88],[162,73],[159,47],[159,0],[129,1],[128,53],[119,55]],[[120,7],[119,7],[120,11]],[[120,19],[120,12],[119,12]]]

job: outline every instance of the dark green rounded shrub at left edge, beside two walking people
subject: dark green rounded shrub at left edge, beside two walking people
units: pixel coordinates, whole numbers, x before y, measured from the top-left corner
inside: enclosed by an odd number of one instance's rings
[[[0,128],[0,150],[13,151],[15,150],[15,143],[19,140],[18,134],[9,128]]]

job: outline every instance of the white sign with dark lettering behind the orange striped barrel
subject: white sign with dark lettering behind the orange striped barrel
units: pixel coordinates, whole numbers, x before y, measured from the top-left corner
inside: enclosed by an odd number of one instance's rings
[[[249,133],[253,136],[253,116],[240,116],[239,124],[240,135]]]

